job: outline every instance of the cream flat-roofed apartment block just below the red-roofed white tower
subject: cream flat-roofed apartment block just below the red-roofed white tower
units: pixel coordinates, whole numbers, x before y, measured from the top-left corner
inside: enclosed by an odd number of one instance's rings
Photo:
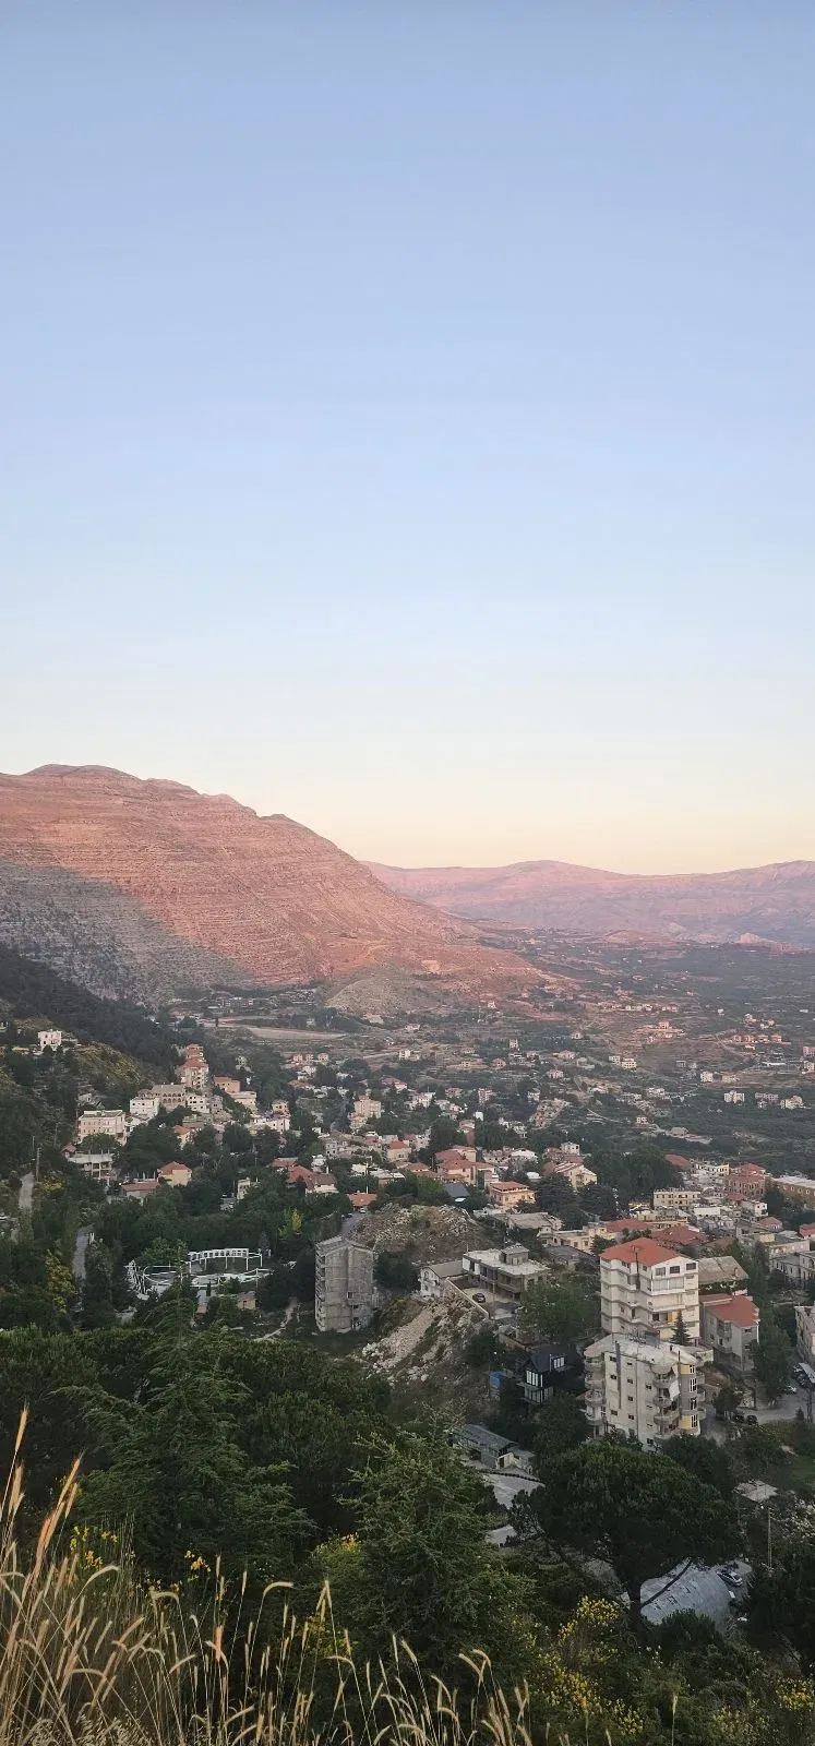
[[[595,1437],[620,1430],[654,1449],[682,1432],[700,1435],[705,1390],[700,1355],[689,1346],[606,1334],[586,1346],[583,1362]]]

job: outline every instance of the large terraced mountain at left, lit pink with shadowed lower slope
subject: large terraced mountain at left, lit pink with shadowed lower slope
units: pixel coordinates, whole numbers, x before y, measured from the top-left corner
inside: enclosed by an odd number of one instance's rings
[[[141,1000],[372,966],[468,993],[534,980],[291,819],[89,765],[0,775],[0,941]]]

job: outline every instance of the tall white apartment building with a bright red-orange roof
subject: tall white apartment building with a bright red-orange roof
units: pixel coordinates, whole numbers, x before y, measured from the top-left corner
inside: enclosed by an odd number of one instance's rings
[[[649,1236],[600,1255],[600,1323],[606,1334],[674,1337],[682,1318],[688,1341],[700,1337],[698,1266]]]

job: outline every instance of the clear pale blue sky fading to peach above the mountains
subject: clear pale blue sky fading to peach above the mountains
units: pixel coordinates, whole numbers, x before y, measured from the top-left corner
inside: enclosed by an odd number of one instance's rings
[[[0,768],[815,859],[812,0],[0,0]]]

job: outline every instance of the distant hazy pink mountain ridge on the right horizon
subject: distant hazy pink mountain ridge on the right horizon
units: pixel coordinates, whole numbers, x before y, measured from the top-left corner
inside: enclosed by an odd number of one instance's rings
[[[815,948],[815,861],[733,873],[602,873],[565,861],[508,868],[386,868],[401,897],[508,927],[640,939],[747,941]]]

